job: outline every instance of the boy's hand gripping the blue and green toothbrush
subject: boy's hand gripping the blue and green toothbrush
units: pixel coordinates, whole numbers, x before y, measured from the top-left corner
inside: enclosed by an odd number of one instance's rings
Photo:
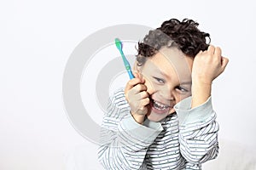
[[[148,113],[148,92],[143,77],[138,73],[134,73],[134,77],[126,84],[125,99],[131,107],[131,115],[135,121],[143,124]]]

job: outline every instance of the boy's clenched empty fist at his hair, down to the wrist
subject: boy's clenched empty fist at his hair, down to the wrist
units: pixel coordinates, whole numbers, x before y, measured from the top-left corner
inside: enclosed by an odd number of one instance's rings
[[[221,49],[210,45],[207,50],[200,51],[194,59],[192,82],[211,84],[225,69],[229,59],[221,56]]]

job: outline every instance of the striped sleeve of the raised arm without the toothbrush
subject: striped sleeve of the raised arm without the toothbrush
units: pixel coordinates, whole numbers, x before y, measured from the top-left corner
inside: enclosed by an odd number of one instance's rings
[[[179,141],[183,157],[199,165],[218,156],[218,122],[212,97],[191,109],[191,97],[174,106],[179,119]]]

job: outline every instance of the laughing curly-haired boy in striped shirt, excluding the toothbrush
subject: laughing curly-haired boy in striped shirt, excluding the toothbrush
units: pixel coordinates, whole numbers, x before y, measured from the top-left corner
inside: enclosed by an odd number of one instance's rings
[[[201,169],[218,156],[212,81],[228,63],[194,20],[166,20],[138,43],[135,78],[102,122],[105,169]]]

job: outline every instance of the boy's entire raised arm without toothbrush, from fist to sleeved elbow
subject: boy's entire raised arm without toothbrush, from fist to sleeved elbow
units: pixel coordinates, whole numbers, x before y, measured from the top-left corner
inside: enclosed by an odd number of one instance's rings
[[[218,123],[211,89],[228,61],[221,56],[221,49],[213,46],[197,54],[192,68],[192,97],[176,105],[181,152],[189,163],[201,164],[218,156]]]

